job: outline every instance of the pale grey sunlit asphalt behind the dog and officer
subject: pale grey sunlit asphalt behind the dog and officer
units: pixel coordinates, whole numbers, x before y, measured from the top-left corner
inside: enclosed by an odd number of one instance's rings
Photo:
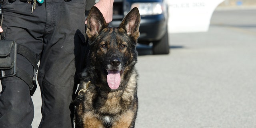
[[[215,11],[208,32],[170,34],[169,55],[138,47],[136,128],[256,128],[255,14]]]

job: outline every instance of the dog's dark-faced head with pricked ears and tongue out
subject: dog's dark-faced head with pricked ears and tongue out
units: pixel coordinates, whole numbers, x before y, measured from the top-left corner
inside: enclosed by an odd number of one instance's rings
[[[118,89],[126,73],[137,62],[136,44],[140,35],[140,14],[133,8],[118,27],[108,27],[102,13],[93,6],[87,17],[86,35],[89,40],[89,65],[98,78]]]

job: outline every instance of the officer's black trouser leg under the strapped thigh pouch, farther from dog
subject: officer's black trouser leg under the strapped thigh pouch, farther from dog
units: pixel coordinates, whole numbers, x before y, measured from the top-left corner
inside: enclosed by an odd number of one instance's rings
[[[31,6],[20,0],[15,2],[4,0],[2,6],[4,32],[1,33],[1,37],[26,46],[39,60],[46,14],[41,10],[43,6],[36,7],[40,11],[34,11],[31,14]],[[26,58],[17,54],[16,63],[19,69],[32,76],[33,66]],[[16,76],[1,79],[1,84],[0,128],[30,128],[34,117],[34,107],[28,85]]]

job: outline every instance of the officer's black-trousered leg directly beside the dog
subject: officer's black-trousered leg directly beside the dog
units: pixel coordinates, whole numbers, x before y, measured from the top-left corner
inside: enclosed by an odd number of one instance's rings
[[[53,0],[54,1],[54,0]],[[84,42],[85,1],[55,0],[46,2],[50,15],[46,24],[45,45],[38,71],[42,94],[42,128],[71,128],[74,107],[74,78],[81,61],[80,43]],[[53,23],[53,24],[51,24]]]

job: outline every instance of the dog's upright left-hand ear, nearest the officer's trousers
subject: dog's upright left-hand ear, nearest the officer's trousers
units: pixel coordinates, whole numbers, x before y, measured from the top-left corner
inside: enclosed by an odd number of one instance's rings
[[[108,24],[106,23],[100,10],[95,6],[92,6],[87,17],[87,37],[90,40],[93,40],[100,34],[102,29],[106,27],[108,27]]]

